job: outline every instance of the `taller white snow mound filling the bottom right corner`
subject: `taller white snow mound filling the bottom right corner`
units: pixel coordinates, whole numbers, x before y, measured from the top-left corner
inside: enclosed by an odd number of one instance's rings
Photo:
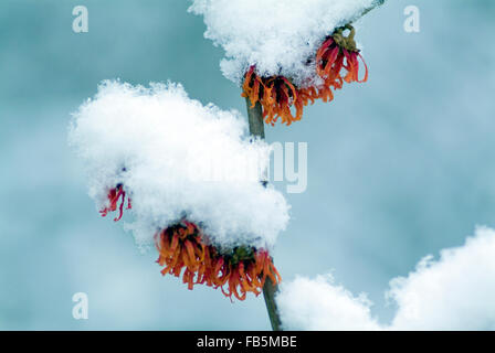
[[[423,258],[415,271],[391,281],[399,330],[495,330],[495,231],[480,227],[440,259]]]

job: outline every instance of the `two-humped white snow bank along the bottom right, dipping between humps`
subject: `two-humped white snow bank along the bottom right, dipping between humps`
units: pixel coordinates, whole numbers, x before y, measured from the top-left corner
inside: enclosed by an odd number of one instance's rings
[[[391,324],[378,324],[370,303],[331,277],[282,284],[282,322],[293,330],[495,330],[495,231],[477,228],[463,246],[423,258],[408,277],[390,281],[397,306]]]

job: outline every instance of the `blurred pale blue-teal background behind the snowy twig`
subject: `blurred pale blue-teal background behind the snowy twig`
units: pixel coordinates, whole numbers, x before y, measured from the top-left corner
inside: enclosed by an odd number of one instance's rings
[[[72,31],[78,4],[88,33]],[[106,78],[171,79],[245,111],[189,4],[0,2],[0,329],[270,329],[262,297],[231,303],[162,278],[155,250],[98,215],[66,142],[71,113]],[[420,33],[403,30],[410,4]],[[308,188],[287,194],[292,221],[274,252],[284,280],[331,271],[387,323],[392,277],[495,226],[494,18],[488,0],[389,0],[357,24],[369,82],[267,127],[268,141],[308,142]],[[81,291],[88,320],[72,317]]]

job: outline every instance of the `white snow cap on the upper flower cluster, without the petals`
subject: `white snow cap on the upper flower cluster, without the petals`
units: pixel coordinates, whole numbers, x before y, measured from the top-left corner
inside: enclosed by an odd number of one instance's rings
[[[356,20],[377,0],[193,0],[204,36],[221,45],[227,78],[240,83],[251,65],[261,76],[283,75],[299,87],[318,79],[308,58],[338,26]]]

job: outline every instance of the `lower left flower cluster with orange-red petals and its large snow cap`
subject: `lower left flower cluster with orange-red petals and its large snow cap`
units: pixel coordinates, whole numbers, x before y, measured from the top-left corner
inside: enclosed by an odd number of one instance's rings
[[[190,99],[177,84],[149,88],[104,82],[74,114],[70,141],[83,160],[102,216],[128,211],[141,247],[155,247],[161,274],[244,300],[281,276],[270,256],[288,205],[259,179],[202,180],[208,161],[256,161],[271,147],[251,141],[236,111]],[[124,165],[124,167],[123,167]]]

